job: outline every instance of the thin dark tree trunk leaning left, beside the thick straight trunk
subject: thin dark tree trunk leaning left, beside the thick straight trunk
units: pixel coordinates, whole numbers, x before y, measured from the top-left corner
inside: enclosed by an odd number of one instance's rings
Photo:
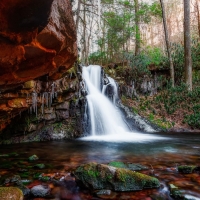
[[[168,34],[168,28],[167,28],[167,22],[166,22],[166,15],[165,15],[165,5],[163,0],[160,0],[161,8],[162,8],[162,18],[163,18],[163,26],[164,26],[164,32],[165,32],[165,42],[167,47],[167,54],[169,58],[169,66],[170,66],[170,76],[171,76],[171,82],[172,87],[174,87],[174,65],[173,60],[171,56],[171,46],[169,42],[169,34]]]

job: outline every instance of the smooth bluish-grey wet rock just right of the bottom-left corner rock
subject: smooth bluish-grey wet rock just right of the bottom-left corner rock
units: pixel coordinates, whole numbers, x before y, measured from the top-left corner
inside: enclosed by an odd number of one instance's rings
[[[46,197],[50,194],[48,185],[37,185],[31,188],[31,194],[35,197]]]

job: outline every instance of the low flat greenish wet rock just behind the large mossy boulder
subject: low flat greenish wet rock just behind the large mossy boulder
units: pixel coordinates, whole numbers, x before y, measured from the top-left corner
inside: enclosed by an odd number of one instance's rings
[[[132,171],[140,171],[140,170],[147,170],[148,169],[147,166],[144,166],[144,165],[141,165],[141,164],[138,164],[138,163],[124,163],[124,162],[119,162],[119,161],[110,162],[108,165],[116,167],[116,168],[129,169],[129,170],[132,170]]]

